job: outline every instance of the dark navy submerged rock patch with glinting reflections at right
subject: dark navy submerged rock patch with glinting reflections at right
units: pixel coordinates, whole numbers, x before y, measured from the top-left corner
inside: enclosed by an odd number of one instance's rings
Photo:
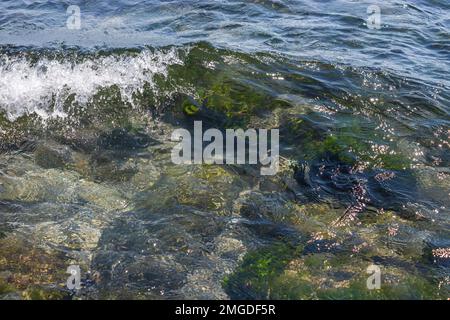
[[[411,171],[360,170],[332,154],[297,166],[294,177],[306,188],[302,196],[307,200],[335,199],[348,206],[346,215],[350,218],[373,206],[413,219],[416,214],[412,206],[421,200]]]

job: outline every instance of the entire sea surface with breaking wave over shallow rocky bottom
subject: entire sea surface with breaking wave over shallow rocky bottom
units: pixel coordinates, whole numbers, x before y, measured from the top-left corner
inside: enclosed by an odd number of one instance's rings
[[[447,0],[3,0],[0,298],[448,299],[449,74]]]

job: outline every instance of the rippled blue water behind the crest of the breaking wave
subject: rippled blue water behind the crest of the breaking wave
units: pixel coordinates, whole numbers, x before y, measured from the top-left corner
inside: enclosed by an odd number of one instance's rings
[[[373,1],[2,1],[0,42],[52,47],[135,47],[208,41],[448,84],[447,1],[383,1],[380,30],[366,26]],[[66,9],[81,9],[68,30]]]

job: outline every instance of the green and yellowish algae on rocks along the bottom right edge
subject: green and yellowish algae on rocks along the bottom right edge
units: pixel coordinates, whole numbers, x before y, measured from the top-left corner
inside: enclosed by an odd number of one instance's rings
[[[446,299],[433,281],[392,266],[380,266],[380,289],[368,289],[369,265],[350,255],[272,246],[247,254],[223,286],[235,299]]]

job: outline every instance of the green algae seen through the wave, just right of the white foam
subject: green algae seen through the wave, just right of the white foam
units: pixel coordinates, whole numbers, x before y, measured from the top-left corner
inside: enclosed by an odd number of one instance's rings
[[[245,127],[255,115],[290,107],[287,101],[278,99],[269,90],[252,86],[253,73],[242,74],[240,66],[245,67],[254,59],[230,53],[230,57],[238,61],[230,65],[224,61],[223,53],[223,50],[218,51],[207,44],[194,46],[184,57],[183,65],[169,67],[168,78],[173,79],[173,83],[165,87],[172,87],[175,91],[179,87],[192,88],[189,90],[190,99],[202,101],[204,107],[223,115],[220,120],[224,127]],[[208,61],[214,62],[214,67],[208,67]],[[193,116],[198,114],[199,106],[192,104],[190,99],[183,99],[176,108]]]

